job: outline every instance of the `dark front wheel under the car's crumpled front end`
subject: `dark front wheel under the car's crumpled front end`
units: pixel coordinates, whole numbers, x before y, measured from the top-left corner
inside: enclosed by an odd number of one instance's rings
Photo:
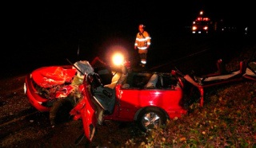
[[[70,111],[73,108],[70,99],[58,99],[50,109],[50,123],[65,123],[70,120]]]

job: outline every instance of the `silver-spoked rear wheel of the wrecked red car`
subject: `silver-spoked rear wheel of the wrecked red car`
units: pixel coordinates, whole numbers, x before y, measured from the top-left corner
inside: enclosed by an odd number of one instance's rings
[[[166,115],[158,108],[143,109],[137,119],[138,127],[147,132],[166,123]]]

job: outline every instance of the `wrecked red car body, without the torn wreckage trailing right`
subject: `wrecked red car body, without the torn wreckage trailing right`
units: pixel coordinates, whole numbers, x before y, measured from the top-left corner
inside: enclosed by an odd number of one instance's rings
[[[124,65],[120,72],[111,73],[109,84],[103,84],[103,74],[109,74],[103,71],[106,69],[94,72],[86,60],[70,66],[38,68],[26,76],[24,89],[34,107],[39,111],[50,111],[53,123],[56,118],[65,119],[63,111],[67,112],[75,105],[70,114],[79,119],[80,114],[74,111],[78,111],[86,100],[92,101],[86,106],[99,110],[96,112],[100,114],[97,117],[100,121],[137,120],[144,131],[148,126],[186,114],[182,107],[182,80],[171,73],[130,72]],[[54,112],[52,116],[51,112]],[[90,119],[89,115],[86,119]]]

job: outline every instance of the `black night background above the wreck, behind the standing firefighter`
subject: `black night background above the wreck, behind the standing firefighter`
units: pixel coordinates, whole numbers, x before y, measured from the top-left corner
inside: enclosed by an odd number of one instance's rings
[[[250,1],[7,2],[2,18],[2,74],[69,64],[66,58],[91,61],[100,56],[109,61],[114,51],[132,60],[139,24],[146,25],[152,37],[150,49],[156,60],[161,58],[159,54],[181,58],[192,54],[192,49],[189,44],[176,43],[191,40],[190,25],[200,10],[212,21],[235,27],[236,35],[243,35],[248,27],[248,34],[254,36],[253,6]],[[198,44],[204,40],[200,38]]]

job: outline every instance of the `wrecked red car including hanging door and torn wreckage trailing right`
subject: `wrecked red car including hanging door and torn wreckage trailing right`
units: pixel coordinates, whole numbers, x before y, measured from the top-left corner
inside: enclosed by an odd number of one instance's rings
[[[26,76],[24,90],[39,111],[54,112],[53,122],[63,110],[74,120],[82,119],[84,134],[91,141],[104,120],[136,122],[142,131],[187,113],[190,91],[240,80],[256,80],[255,60],[241,61],[239,69],[226,72],[222,61],[218,72],[206,76],[184,75],[177,69],[166,72],[134,72],[128,62],[119,70],[95,70],[86,60],[70,66],[38,68]],[[108,70],[107,70],[108,69]],[[111,78],[103,83],[102,77]],[[105,80],[106,82],[106,80]],[[62,112],[62,114],[58,114]],[[69,116],[69,117],[70,117]],[[50,117],[51,118],[51,117]],[[64,119],[64,117],[60,118]]]

